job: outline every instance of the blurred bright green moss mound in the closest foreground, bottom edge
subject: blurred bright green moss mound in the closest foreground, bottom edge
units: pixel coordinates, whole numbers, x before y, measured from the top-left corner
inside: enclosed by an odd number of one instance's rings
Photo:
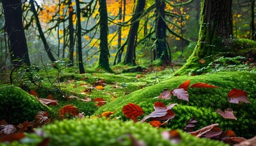
[[[172,145],[170,141],[163,139],[161,132],[149,123],[123,122],[121,120],[107,119],[73,119],[55,122],[38,129],[44,131],[44,137],[49,137],[51,145],[134,145],[134,141],[144,142],[146,145]],[[179,131],[181,142],[177,145],[226,145],[220,141],[198,138],[188,133]],[[36,145],[42,141],[42,137],[35,134],[27,134],[20,142],[10,145]]]

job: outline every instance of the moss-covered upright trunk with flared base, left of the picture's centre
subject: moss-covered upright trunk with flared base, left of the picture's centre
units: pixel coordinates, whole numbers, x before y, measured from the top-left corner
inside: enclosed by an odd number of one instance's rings
[[[100,36],[99,36],[99,58],[96,64],[96,69],[104,69],[108,72],[113,72],[108,63],[108,44],[107,44],[107,35],[108,35],[108,24],[107,24],[107,4],[106,0],[99,0],[99,27],[100,27]]]

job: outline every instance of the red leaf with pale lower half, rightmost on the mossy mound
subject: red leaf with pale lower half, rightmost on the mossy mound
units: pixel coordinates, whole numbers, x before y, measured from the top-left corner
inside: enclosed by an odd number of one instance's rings
[[[247,92],[241,89],[232,89],[231,91],[229,91],[229,94],[227,95],[227,100],[229,100],[230,103],[239,103],[239,101],[250,103],[247,98]]]

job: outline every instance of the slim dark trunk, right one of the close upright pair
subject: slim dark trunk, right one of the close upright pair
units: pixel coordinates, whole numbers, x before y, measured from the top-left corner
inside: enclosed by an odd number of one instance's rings
[[[83,58],[82,58],[82,38],[81,38],[81,18],[80,18],[80,4],[76,0],[76,17],[77,17],[77,51],[78,51],[78,67],[80,74],[85,73]]]

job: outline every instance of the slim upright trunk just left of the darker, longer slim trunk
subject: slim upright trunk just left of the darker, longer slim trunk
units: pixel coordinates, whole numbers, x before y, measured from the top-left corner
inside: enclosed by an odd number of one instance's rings
[[[72,1],[68,1],[69,5],[69,15],[68,15],[68,30],[69,30],[69,60],[70,60],[70,66],[73,66],[74,62],[74,26],[73,26],[73,6],[72,6]]]

